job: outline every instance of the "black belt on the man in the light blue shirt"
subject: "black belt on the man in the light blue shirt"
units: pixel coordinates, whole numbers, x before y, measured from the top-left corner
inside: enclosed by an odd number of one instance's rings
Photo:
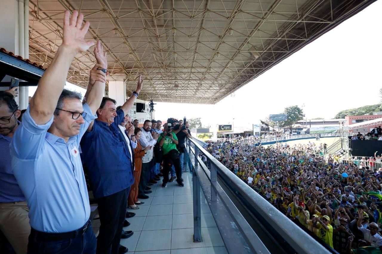
[[[60,240],[68,240],[72,238],[76,238],[78,235],[84,235],[84,233],[91,228],[91,220],[87,220],[85,225],[83,225],[81,228],[69,231],[65,233],[46,233],[37,231],[34,228],[31,228],[31,235],[34,234],[35,239],[37,241],[60,241]]]

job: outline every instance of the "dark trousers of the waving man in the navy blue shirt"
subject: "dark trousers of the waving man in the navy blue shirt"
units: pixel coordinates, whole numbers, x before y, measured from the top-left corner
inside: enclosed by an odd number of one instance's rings
[[[97,253],[99,254],[118,254],[129,191],[130,187],[97,199],[101,222],[97,237]]]

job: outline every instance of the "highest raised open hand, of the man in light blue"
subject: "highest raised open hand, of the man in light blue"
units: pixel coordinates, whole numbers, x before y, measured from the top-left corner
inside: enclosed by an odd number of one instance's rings
[[[69,20],[70,12],[65,11],[62,45],[70,48],[76,53],[88,50],[94,45],[94,41],[85,41],[85,34],[89,29],[89,21],[86,21],[82,26],[84,14],[78,14],[78,11],[73,11]]]

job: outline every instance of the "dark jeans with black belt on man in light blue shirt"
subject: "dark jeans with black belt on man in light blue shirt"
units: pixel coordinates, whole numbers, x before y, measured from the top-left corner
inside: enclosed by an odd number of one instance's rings
[[[57,240],[57,238],[65,238],[65,240]],[[28,254],[94,254],[96,245],[97,239],[93,233],[91,222],[89,222],[86,230],[81,229],[75,233],[45,233],[31,228]]]

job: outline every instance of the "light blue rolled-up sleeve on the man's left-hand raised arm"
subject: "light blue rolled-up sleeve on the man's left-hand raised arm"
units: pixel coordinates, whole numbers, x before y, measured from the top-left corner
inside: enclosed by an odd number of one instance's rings
[[[35,159],[41,153],[45,135],[53,122],[53,116],[46,124],[36,124],[29,112],[29,106],[23,114],[23,122],[19,125],[11,141],[11,155],[18,159]]]

